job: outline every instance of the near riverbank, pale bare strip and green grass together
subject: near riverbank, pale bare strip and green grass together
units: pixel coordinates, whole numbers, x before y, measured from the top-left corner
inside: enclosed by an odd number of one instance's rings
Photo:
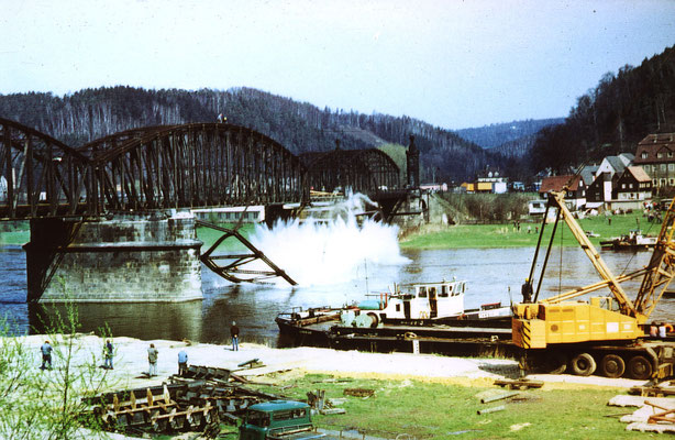
[[[59,377],[68,366],[64,364],[64,358],[55,356],[53,371],[40,371],[38,353],[45,338],[53,342],[56,353],[68,353],[68,342],[73,341],[68,371],[70,374],[87,371],[104,373],[99,392],[161,385],[176,373],[178,351],[186,350],[190,364],[236,371],[237,375],[252,381],[246,384],[247,387],[297,400],[307,400],[308,393],[322,389],[328,399],[344,399],[342,407],[346,414],[314,417],[314,422],[325,429],[351,428],[390,439],[398,435],[408,435],[398,438],[418,439],[455,436],[463,439],[635,437],[624,430],[626,425],[610,417],[618,413],[630,414],[634,408],[607,406],[611,397],[627,394],[628,388],[640,384],[627,378],[535,375],[533,380],[544,382],[542,388],[520,392],[511,400],[482,404],[482,398],[504,393],[505,389],[495,386],[494,381],[514,377],[518,374],[517,362],[316,348],[272,349],[245,340],[240,351],[233,352],[226,345],[114,337],[114,370],[104,371],[96,367],[102,362],[103,339],[92,334],[33,334],[11,340],[19,342],[27,354],[24,367],[40,380],[36,386],[43,384],[41,381]],[[151,342],[159,351],[158,376],[147,378],[142,373],[147,369],[147,346]],[[257,359],[266,366],[253,370],[237,366],[251,359]],[[93,370],[88,370],[91,366],[95,366]],[[345,388],[373,389],[374,395],[368,398],[345,396]],[[70,398],[79,402],[79,397],[88,391],[87,384],[75,386]],[[16,402],[23,402],[20,397],[31,393],[30,387],[22,386],[16,388],[13,397]],[[43,396],[41,402],[45,398]],[[58,400],[54,404],[58,405]],[[501,411],[477,414],[480,409],[501,405],[505,406]],[[11,416],[12,411],[0,411],[0,428],[7,428],[2,424],[7,424]],[[236,428],[222,425],[222,430],[223,433],[234,432]]]

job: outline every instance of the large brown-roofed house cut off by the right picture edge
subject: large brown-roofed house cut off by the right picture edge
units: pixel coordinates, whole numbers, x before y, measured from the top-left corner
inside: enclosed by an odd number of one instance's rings
[[[634,164],[651,177],[653,191],[675,187],[675,133],[645,136],[638,143]]]

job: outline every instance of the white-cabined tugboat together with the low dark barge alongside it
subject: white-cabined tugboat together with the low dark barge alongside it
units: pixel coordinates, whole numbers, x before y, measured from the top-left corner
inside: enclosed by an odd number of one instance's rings
[[[466,282],[418,283],[340,308],[295,308],[276,317],[281,345],[442,354],[512,353],[511,308],[464,308]]]

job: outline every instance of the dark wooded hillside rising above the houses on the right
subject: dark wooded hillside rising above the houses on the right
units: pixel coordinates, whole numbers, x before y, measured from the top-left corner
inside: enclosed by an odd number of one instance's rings
[[[544,128],[532,148],[531,169],[564,173],[607,155],[634,153],[650,133],[675,131],[675,46],[606,74],[577,98],[565,122]]]

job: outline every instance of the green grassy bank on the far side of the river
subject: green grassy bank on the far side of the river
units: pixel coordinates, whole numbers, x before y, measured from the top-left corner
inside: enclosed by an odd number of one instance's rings
[[[590,241],[599,246],[600,241],[612,237],[627,234],[631,229],[640,228],[643,233],[657,235],[661,223],[650,223],[640,212],[611,216],[611,224],[605,216],[589,217],[578,220],[587,232],[599,237]],[[518,248],[535,246],[539,239],[541,222],[523,222],[520,231],[508,224],[460,224],[460,226],[427,226],[413,231],[401,240],[405,249],[460,249],[460,248]],[[544,241],[551,238],[552,224],[544,229]],[[558,224],[555,243],[565,246],[576,246],[577,241],[564,222]]]

